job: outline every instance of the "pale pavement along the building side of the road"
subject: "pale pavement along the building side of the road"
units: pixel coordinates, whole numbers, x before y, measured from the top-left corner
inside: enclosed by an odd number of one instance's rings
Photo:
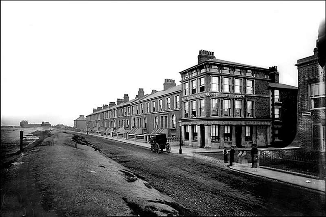
[[[81,133],[81,132],[80,132]],[[86,133],[82,133],[86,134]],[[106,139],[116,140],[119,142],[124,142],[128,144],[138,145],[145,148],[150,148],[149,143],[147,142],[138,142],[138,141],[132,141],[127,139],[118,139],[118,138],[112,138],[108,136],[100,136],[98,134],[91,134],[89,135],[103,137]],[[178,144],[171,144],[171,153],[173,154],[179,154],[180,146]],[[198,153],[205,153],[205,152],[211,152],[211,153],[217,153],[222,152],[222,149],[205,149],[205,148],[199,148],[199,147],[193,147],[193,146],[181,146],[182,154],[198,154]],[[213,157],[206,157],[205,159],[209,159]],[[215,159],[215,158],[213,158]],[[212,159],[212,160],[213,160]],[[322,191],[325,193],[325,179],[318,179],[314,178],[313,176],[307,176],[303,174],[295,174],[288,171],[277,171],[276,169],[270,169],[263,166],[258,166],[258,168],[251,168],[251,163],[249,164],[239,164],[239,163],[233,163],[233,166],[228,167],[232,170],[247,173],[254,176],[260,176],[264,178],[273,179],[275,181],[281,181],[286,182],[289,184],[301,186],[304,188],[314,189],[318,191]]]

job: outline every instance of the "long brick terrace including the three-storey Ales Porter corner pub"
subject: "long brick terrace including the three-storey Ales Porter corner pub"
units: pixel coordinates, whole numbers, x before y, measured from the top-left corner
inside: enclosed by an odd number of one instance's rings
[[[179,72],[181,85],[165,79],[163,90],[128,94],[93,109],[87,130],[148,141],[165,133],[169,141],[203,148],[285,147],[296,135],[297,87],[280,84],[277,67],[261,68],[216,59],[199,51],[198,64]]]

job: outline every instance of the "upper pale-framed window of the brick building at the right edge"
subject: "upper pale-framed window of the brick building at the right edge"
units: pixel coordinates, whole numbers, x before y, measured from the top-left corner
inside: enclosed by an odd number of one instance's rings
[[[325,83],[309,84],[310,109],[325,108]]]

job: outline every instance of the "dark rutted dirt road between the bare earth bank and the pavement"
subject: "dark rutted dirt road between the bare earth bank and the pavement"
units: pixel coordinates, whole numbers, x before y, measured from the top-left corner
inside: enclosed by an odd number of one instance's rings
[[[85,136],[85,135],[83,135]],[[162,153],[103,139],[85,138],[197,215],[325,215],[325,194],[238,173],[223,160]]]

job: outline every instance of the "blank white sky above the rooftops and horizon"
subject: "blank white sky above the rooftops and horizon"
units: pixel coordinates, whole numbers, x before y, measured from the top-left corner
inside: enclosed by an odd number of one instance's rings
[[[1,124],[79,115],[180,84],[199,50],[268,68],[297,86],[325,1],[1,1]]]

